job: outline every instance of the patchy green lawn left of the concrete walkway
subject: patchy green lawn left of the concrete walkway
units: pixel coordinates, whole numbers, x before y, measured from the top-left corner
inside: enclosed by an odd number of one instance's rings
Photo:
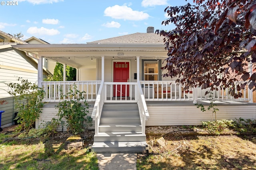
[[[98,170],[95,153],[87,152],[86,149],[65,150],[64,141],[19,141],[15,145],[0,148],[0,155],[1,170]]]

